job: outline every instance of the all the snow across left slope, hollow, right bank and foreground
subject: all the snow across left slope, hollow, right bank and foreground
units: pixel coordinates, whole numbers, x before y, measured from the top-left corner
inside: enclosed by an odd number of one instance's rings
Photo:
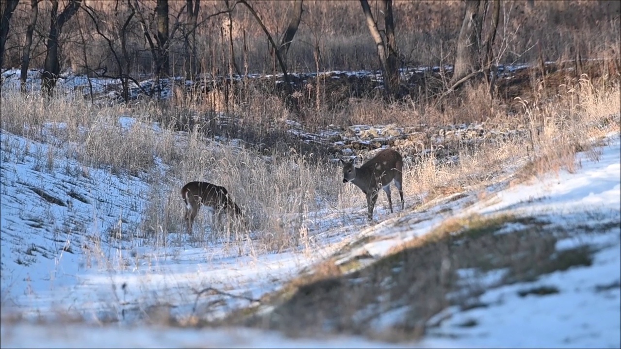
[[[365,235],[382,237],[342,256],[342,260],[347,260],[365,254],[372,256],[366,263],[372,263],[392,247],[429,232],[448,217],[498,212],[543,215],[566,229],[578,225],[595,229],[605,226],[607,229],[557,243],[558,250],[584,243],[597,248],[591,266],[556,271],[532,283],[490,288],[481,296],[487,307],[466,311],[445,309],[437,319],[432,319],[438,326],[428,331],[421,342],[409,345],[621,346],[621,242],[618,225],[621,222],[621,148],[618,134],[607,139],[608,145],[599,148],[598,156],[594,156],[594,152],[580,153],[581,167],[574,173],[561,171],[558,175],[551,173],[531,183],[499,185],[494,188],[501,190],[471,206],[466,207],[464,202],[476,198],[476,194],[425,212],[397,212],[365,229],[361,229],[362,225],[340,227],[338,220],[325,215],[324,221],[317,224],[324,227],[324,235],[318,235],[324,240],[317,242],[312,253],[299,250],[235,256],[223,252],[221,245],[150,248],[134,242],[117,248],[112,243],[115,240],[103,239],[99,243],[103,247],[99,253],[105,258],[97,253],[89,255],[93,246],[89,243],[93,237],[101,238],[102,232],[113,230],[117,224],[137,224],[144,203],[132,193],[144,190],[146,184],[139,178],[117,177],[107,171],[100,174],[94,169],[89,169],[88,178],[80,178],[79,184],[72,184],[76,180],[75,174],[65,176],[64,170],[59,169],[70,170],[77,164],[69,159],[57,160],[55,171],[48,171],[45,163],[37,165],[40,161],[37,156],[11,153],[16,147],[5,147],[11,142],[30,141],[2,133],[3,317],[9,310],[24,314],[76,312],[87,315],[87,318],[91,314],[90,319],[98,321],[105,322],[106,318],[120,321],[104,327],[89,325],[89,322],[75,327],[47,324],[43,329],[41,325],[5,318],[2,321],[2,347],[389,346],[358,337],[292,340],[258,330],[196,331],[150,327],[145,322],[154,319],[150,314],[155,305],[183,317],[250,304],[264,292],[277,289],[317,258],[332,253],[345,242],[345,237],[349,240]],[[30,145],[31,149],[37,147],[45,146]],[[35,193],[32,188],[43,191]],[[451,207],[451,211],[446,207]],[[385,208],[380,213],[384,215]],[[135,241],[140,241],[140,237]],[[67,244],[70,248],[65,247]],[[134,254],[130,253],[132,251]],[[97,260],[108,263],[90,265]],[[556,292],[545,296],[524,293],[524,290],[542,286],[554,288]],[[228,296],[198,294],[210,287],[226,290],[238,299],[232,302]],[[395,316],[394,312],[386,314],[386,319],[381,322],[390,323],[394,320],[391,317]],[[129,328],[129,322],[140,325],[140,328]],[[134,342],[119,340],[132,336],[135,336]]]

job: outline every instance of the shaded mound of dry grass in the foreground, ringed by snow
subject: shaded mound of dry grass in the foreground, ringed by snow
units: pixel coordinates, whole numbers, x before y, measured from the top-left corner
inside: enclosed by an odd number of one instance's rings
[[[521,228],[499,233],[509,224]],[[585,231],[603,232],[613,226]],[[463,310],[487,306],[479,296],[489,285],[483,286],[476,278],[463,279],[458,270],[476,270],[479,276],[503,271],[498,286],[591,265],[593,250],[587,245],[555,250],[559,239],[576,233],[532,217],[453,219],[362,270],[342,273],[329,262],[328,266],[322,263],[314,276],[295,279],[265,298],[264,307],[273,306],[274,310],[267,314],[257,309],[240,311],[223,322],[283,330],[294,336],[350,333],[391,341],[420,338],[434,325],[428,320],[447,306]],[[404,308],[402,319],[394,324],[384,328],[374,325],[374,320],[390,310]]]

